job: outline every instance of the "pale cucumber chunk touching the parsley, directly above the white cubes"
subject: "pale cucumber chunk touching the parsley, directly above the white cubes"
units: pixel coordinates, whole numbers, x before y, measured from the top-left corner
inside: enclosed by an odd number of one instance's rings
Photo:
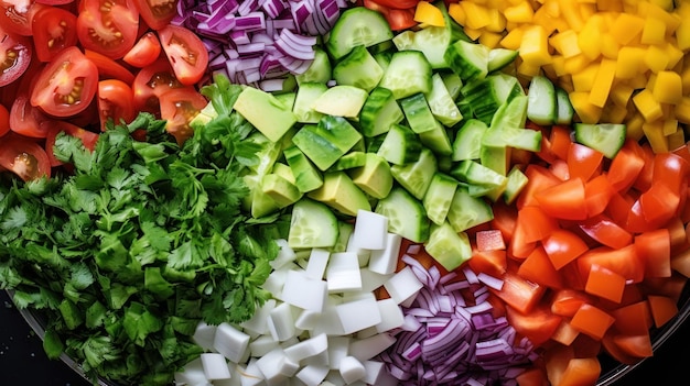
[[[337,218],[325,203],[302,198],[292,206],[288,234],[290,247],[332,247],[337,239]]]

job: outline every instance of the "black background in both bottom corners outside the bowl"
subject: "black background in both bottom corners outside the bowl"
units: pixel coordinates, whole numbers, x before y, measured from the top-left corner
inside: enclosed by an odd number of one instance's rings
[[[680,328],[655,356],[643,362],[618,385],[675,385],[687,376],[690,323]],[[681,382],[682,383],[682,382]],[[8,295],[0,290],[0,385],[89,386],[61,361],[45,356],[33,333]]]

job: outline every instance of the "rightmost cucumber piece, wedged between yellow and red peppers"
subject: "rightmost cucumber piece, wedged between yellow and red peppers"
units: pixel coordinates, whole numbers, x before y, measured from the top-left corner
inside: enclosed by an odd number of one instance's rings
[[[575,141],[604,154],[606,158],[616,156],[626,137],[624,123],[575,123]]]

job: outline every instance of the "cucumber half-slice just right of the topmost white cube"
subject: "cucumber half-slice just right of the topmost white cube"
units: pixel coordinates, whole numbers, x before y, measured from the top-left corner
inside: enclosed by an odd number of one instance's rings
[[[375,211],[388,218],[388,230],[416,243],[429,239],[430,221],[422,203],[401,187],[380,199]]]

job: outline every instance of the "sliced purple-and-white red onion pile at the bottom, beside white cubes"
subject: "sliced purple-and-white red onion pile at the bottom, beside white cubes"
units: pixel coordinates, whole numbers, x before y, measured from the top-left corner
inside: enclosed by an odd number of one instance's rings
[[[538,354],[528,339],[516,341],[505,316],[494,316],[488,286],[500,279],[468,267],[441,275],[411,254],[402,261],[424,287],[402,308],[396,343],[377,356],[389,374],[400,385],[515,384]]]

